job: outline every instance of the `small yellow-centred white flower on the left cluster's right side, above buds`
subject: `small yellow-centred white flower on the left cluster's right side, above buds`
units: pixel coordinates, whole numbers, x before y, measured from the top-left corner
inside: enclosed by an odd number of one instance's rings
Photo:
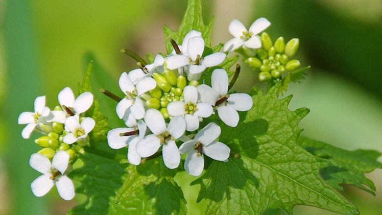
[[[93,130],[94,126],[95,121],[90,117],[82,119],[81,124],[75,117],[68,117],[65,121],[67,135],[64,136],[63,142],[72,144],[78,140],[86,139],[88,134]]]

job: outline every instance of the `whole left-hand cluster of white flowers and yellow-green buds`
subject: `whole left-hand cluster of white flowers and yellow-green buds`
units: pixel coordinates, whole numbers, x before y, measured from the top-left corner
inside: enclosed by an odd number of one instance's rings
[[[94,119],[83,117],[93,104],[93,95],[85,92],[75,98],[66,87],[58,94],[58,102],[60,106],[50,110],[46,97],[39,96],[34,101],[34,112],[21,113],[18,122],[26,124],[24,139],[30,138],[32,132],[44,135],[35,140],[43,148],[29,160],[31,167],[43,173],[31,184],[33,194],[43,196],[56,185],[60,196],[70,200],[74,186],[67,174],[78,155],[84,153],[83,146],[89,143],[88,135],[95,126]]]

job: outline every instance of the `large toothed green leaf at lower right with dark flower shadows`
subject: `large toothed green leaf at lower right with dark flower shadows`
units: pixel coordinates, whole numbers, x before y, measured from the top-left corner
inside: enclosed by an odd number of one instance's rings
[[[206,214],[261,215],[267,208],[292,214],[293,206],[302,204],[357,215],[357,208],[321,178],[319,170],[329,162],[297,145],[298,123],[309,110],[289,111],[292,96],[279,100],[279,87],[253,96],[254,106],[241,114],[237,127],[221,124],[219,141],[240,158],[213,161],[192,182],[201,186],[198,201],[206,199]]]

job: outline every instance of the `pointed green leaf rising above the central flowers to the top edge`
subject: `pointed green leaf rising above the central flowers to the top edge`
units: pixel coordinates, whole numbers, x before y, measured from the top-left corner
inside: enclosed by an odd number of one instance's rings
[[[202,2],[201,0],[189,0],[186,13],[182,23],[177,31],[172,31],[166,25],[163,27],[163,34],[166,41],[167,54],[171,53],[172,46],[168,37],[171,37],[177,44],[181,44],[184,36],[191,30],[197,30],[202,33],[205,45],[211,47],[211,26],[214,18],[211,19],[208,25],[203,23]]]

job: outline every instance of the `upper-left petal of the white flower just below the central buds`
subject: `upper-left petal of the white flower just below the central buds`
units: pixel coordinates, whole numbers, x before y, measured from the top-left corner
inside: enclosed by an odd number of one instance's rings
[[[166,123],[160,111],[148,109],[144,115],[144,121],[147,127],[155,135],[160,135],[166,132]]]

